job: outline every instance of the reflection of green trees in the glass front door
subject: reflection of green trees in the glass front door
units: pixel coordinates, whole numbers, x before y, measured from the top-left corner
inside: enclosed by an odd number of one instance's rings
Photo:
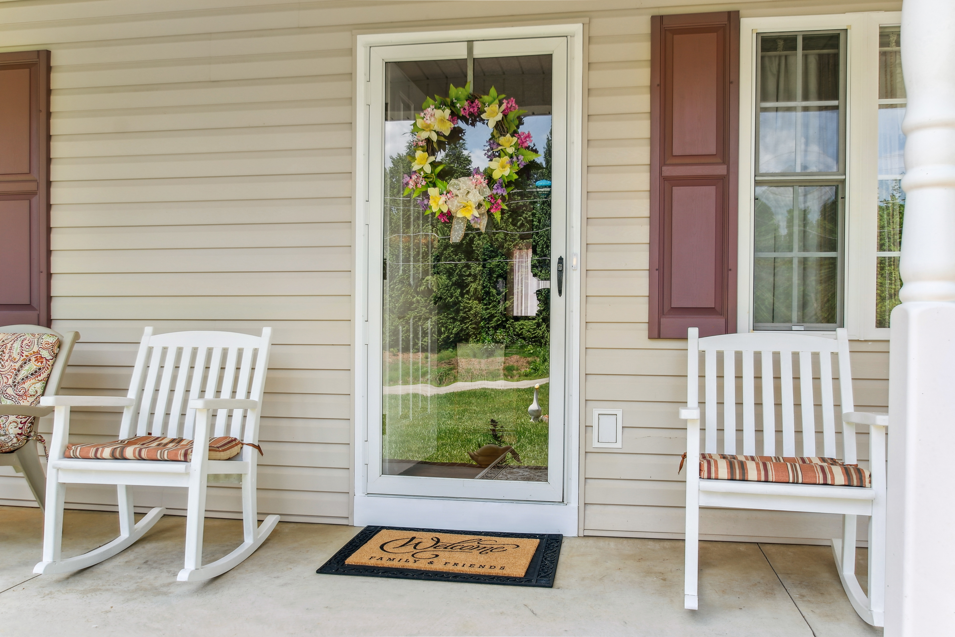
[[[410,143],[406,153],[413,155]],[[471,173],[463,140],[449,144],[443,160],[442,179]],[[402,197],[402,177],[410,173],[411,160],[401,156],[392,159],[385,175],[384,346],[386,357],[394,359],[386,367],[394,377],[385,384],[454,382],[458,343],[507,347],[508,361],[520,361],[505,370],[510,379],[546,376],[549,290],[538,291],[536,316],[514,317],[507,311],[507,282],[510,251],[528,242],[536,260],[534,275],[550,278],[550,189],[535,186],[549,178],[549,161],[531,163],[526,179],[516,182],[500,223],[489,220],[486,233],[469,228],[457,244],[448,239],[450,223],[425,215],[417,203]]]

